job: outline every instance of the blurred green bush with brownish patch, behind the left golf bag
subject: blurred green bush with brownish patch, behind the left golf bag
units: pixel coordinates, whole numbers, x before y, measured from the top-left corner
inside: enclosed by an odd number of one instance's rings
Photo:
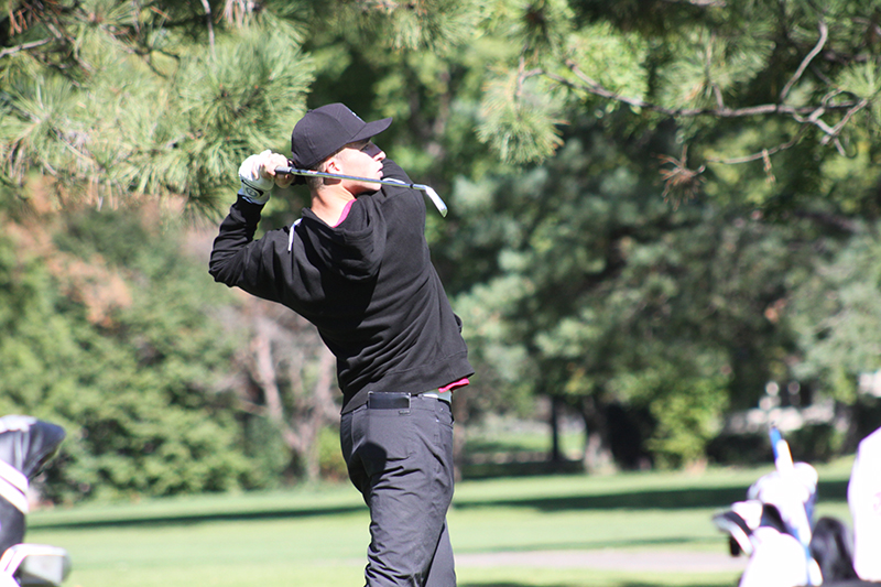
[[[218,491],[249,471],[220,379],[230,334],[207,314],[218,292],[142,218],[70,217],[50,257],[2,240],[2,274],[17,275],[3,307],[18,308],[2,324],[2,409],[67,431],[50,498]]]

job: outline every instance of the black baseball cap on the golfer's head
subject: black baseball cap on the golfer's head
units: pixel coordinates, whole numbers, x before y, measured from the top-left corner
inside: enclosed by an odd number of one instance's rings
[[[391,118],[365,122],[339,102],[309,110],[291,133],[294,165],[311,170],[347,144],[374,137],[391,123]]]

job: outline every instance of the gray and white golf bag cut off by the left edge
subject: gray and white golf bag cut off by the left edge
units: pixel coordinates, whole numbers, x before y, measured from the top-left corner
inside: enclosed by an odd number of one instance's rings
[[[22,542],[28,488],[64,436],[61,426],[34,417],[0,417],[0,587],[57,586],[69,573],[64,548]]]

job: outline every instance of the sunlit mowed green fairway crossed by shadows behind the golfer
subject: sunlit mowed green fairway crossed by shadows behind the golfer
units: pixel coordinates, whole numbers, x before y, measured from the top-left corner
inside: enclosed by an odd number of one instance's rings
[[[818,467],[819,515],[850,524],[850,460]],[[449,514],[460,587],[730,586],[711,524],[770,467],[463,481]],[[64,546],[75,587],[356,587],[367,509],[348,486],[39,511],[29,542]]]

